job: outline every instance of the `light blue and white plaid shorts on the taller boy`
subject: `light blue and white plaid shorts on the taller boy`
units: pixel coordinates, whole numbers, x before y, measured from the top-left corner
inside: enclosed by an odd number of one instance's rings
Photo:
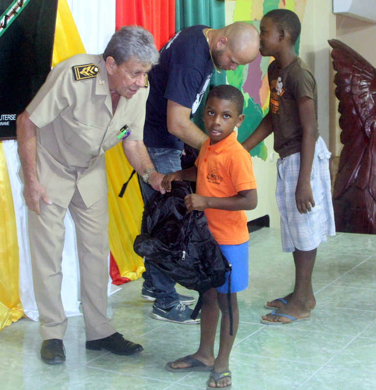
[[[295,190],[300,169],[300,153],[278,158],[276,198],[281,215],[283,252],[311,251],[326,241],[326,235],[336,235],[331,194],[328,151],[318,137],[311,171],[311,188],[315,207],[308,214],[297,211]]]

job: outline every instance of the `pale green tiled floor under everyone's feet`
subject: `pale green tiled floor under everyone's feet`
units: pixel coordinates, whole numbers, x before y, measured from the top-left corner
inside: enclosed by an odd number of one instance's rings
[[[252,233],[249,246],[249,287],[238,294],[241,322],[231,355],[233,389],[376,389],[376,237],[337,234],[320,245],[317,307],[310,321],[283,327],[259,320],[267,300],[291,291],[292,255],[282,253],[278,229]],[[0,389],[206,389],[207,372],[164,369],[196,350],[199,326],[154,320],[140,291],[141,280],[123,285],[109,298],[108,313],[119,332],[143,345],[141,354],[85,350],[83,319],[74,317],[64,337],[66,363],[48,366],[40,360],[38,323],[21,319],[0,332]]]

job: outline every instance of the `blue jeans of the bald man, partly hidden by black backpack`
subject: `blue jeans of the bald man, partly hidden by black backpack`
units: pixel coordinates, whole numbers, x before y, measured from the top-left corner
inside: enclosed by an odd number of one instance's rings
[[[161,174],[169,174],[181,169],[181,150],[169,148],[146,148],[155,169]],[[156,191],[140,177],[142,198],[145,206]],[[141,233],[144,233],[145,216],[142,217]],[[145,261],[143,287],[152,290],[155,294],[155,306],[160,309],[168,309],[179,302],[179,294],[175,290],[175,282],[158,270],[152,263]]]

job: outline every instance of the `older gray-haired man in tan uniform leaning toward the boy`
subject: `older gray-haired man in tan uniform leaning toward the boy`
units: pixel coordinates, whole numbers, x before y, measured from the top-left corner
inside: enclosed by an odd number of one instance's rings
[[[149,32],[123,27],[103,55],[59,63],[17,120],[27,207],[41,358],[65,361],[67,318],[61,302],[64,216],[75,222],[86,348],[117,354],[142,351],[107,318],[109,253],[104,153],[121,139],[130,164],[154,189],[158,174],[143,144],[146,74],[158,62]],[[145,88],[146,87],[146,88]]]

